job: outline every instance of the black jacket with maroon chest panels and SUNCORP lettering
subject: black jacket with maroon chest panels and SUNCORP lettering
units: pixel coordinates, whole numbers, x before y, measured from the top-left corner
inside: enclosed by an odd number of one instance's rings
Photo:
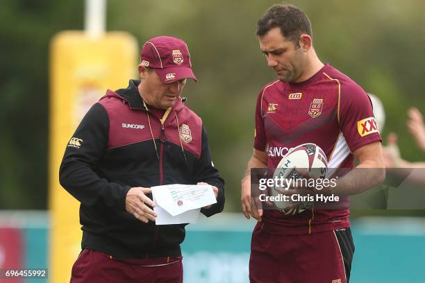
[[[126,212],[128,190],[207,182],[219,189],[217,203],[201,209],[211,216],[223,210],[224,180],[211,162],[197,114],[179,98],[162,126],[144,108],[139,83],[130,80],[126,89],[108,90],[85,114],[67,144],[60,184],[81,202],[82,248],[123,259],[178,256],[185,224],[139,221]]]

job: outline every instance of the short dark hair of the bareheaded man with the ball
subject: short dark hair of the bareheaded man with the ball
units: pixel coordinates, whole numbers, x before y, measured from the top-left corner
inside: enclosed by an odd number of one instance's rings
[[[272,28],[280,28],[284,37],[299,47],[303,33],[313,37],[311,22],[305,12],[290,4],[274,4],[258,19],[256,35],[262,37]]]

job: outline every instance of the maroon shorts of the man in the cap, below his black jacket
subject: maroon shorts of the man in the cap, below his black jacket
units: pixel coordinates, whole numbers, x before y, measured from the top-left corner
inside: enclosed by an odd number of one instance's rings
[[[181,283],[181,257],[118,260],[96,250],[83,250],[72,266],[71,283]]]

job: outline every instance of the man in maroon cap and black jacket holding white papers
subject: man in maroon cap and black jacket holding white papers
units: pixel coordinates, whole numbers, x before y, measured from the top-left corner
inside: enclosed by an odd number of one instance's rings
[[[203,122],[183,104],[186,79],[196,80],[188,46],[155,37],[142,48],[141,80],[109,90],[85,114],[60,165],[60,184],[80,206],[83,249],[72,283],[183,282],[185,225],[156,225],[151,187],[213,187],[224,207],[224,181],[211,162]]]

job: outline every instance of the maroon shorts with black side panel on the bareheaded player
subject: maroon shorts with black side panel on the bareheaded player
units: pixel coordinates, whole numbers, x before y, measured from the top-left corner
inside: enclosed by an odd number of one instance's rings
[[[350,228],[299,235],[253,230],[249,280],[260,283],[347,283],[354,245]]]

